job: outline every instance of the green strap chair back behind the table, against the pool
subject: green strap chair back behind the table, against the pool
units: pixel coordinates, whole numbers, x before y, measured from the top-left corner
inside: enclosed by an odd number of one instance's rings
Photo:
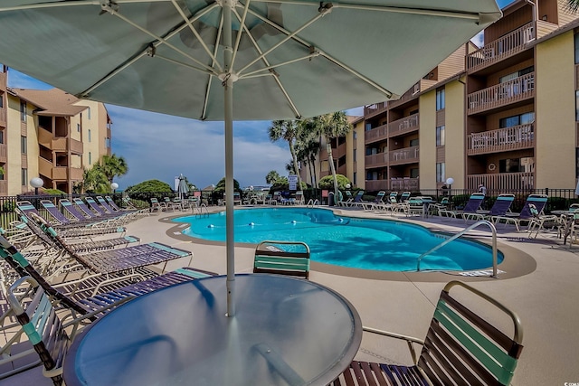
[[[309,247],[301,241],[261,241],[255,248],[253,273],[309,278]]]

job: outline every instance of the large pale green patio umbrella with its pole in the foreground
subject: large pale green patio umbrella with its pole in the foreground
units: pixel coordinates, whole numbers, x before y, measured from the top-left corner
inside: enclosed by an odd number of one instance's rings
[[[223,120],[233,197],[234,119],[395,99],[500,15],[494,0],[3,0],[0,61],[79,98]],[[233,200],[226,213],[233,315]]]

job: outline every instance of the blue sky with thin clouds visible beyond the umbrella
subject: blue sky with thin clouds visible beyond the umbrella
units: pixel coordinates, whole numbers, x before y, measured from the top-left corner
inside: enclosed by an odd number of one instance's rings
[[[498,0],[502,8],[512,0]],[[482,35],[472,39],[482,45]],[[52,89],[12,69],[8,86],[22,89]],[[128,173],[115,180],[119,189],[157,179],[174,186],[183,174],[197,188],[217,184],[225,175],[223,122],[201,122],[158,113],[106,105],[112,119],[111,149],[127,161]],[[362,108],[346,111],[362,115]],[[242,187],[266,185],[272,170],[287,175],[291,155],[287,142],[271,143],[271,121],[233,124],[233,176]]]

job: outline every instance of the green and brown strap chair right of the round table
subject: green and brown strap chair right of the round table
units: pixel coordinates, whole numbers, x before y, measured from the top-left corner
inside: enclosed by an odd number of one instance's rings
[[[464,289],[452,292],[453,295],[459,293],[460,302],[450,294],[454,287]],[[472,301],[483,313],[479,315],[471,310],[463,299]],[[494,315],[501,316],[500,327],[486,319],[488,308],[492,308],[493,321]],[[512,337],[502,328],[513,331]],[[508,385],[523,349],[523,329],[518,316],[497,300],[460,281],[451,281],[442,289],[426,339],[369,327],[364,327],[364,331],[405,341],[413,365],[354,361],[331,386]],[[417,344],[422,345],[418,358],[414,349]]]

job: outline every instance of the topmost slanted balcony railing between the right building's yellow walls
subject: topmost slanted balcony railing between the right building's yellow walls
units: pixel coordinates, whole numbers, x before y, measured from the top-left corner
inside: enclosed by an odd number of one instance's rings
[[[500,39],[472,52],[467,56],[467,71],[479,71],[493,63],[526,49],[527,43],[536,38],[536,27],[533,22],[502,36]]]

